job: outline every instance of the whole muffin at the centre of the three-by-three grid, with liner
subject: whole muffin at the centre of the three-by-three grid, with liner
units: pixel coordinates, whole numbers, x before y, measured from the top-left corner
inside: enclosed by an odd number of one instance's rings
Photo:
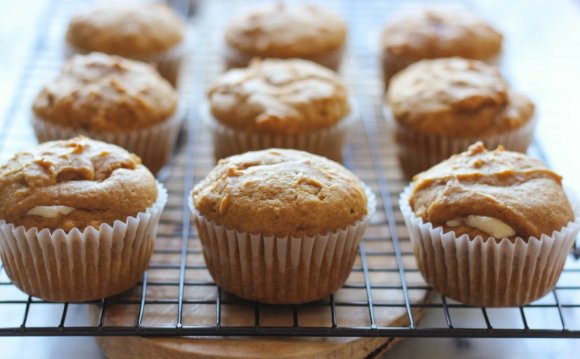
[[[222,75],[208,91],[216,159],[294,148],[340,162],[350,124],[345,85],[306,60],[255,60]]]

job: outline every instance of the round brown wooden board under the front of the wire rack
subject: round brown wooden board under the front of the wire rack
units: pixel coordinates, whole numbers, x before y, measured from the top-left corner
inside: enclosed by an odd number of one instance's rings
[[[395,274],[395,273],[389,273]],[[396,273],[398,275],[398,273]],[[392,281],[395,278],[377,278]],[[349,279],[351,280],[351,279]],[[352,279],[353,281],[355,279]],[[173,290],[151,287],[148,289],[148,300],[174,298]],[[356,293],[342,289],[336,294],[337,301],[359,301]],[[375,303],[399,303],[389,291],[376,292]],[[427,291],[411,291],[412,302],[422,303],[426,300]],[[139,290],[125,297],[138,297]],[[212,293],[199,290],[199,287],[187,291],[188,298],[214,298]],[[225,302],[228,295],[224,296]],[[112,305],[107,307],[105,325],[132,326],[138,314],[137,305]],[[253,325],[253,305],[223,305],[222,323],[224,325]],[[344,308],[343,308],[344,309]],[[366,307],[354,310],[337,308],[338,325],[368,325],[369,314]],[[91,317],[94,321],[99,315],[99,308],[92,306]],[[415,320],[422,314],[414,310]],[[184,325],[212,325],[215,323],[214,305],[184,305]],[[375,307],[377,324],[380,326],[408,325],[407,315],[400,307]],[[143,315],[144,326],[174,326],[177,317],[176,305],[149,304]],[[301,326],[328,326],[330,313],[327,306],[300,309]],[[292,326],[292,313],[287,306],[262,306],[261,324],[270,326]],[[149,358],[365,358],[375,357],[392,347],[400,338],[317,338],[317,337],[98,337],[97,343],[103,353],[110,359],[149,359]]]

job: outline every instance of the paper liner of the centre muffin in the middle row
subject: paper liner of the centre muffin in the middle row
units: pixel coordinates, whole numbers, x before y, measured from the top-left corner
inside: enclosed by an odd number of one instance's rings
[[[209,106],[200,107],[201,117],[210,128],[213,136],[214,156],[216,160],[248,151],[268,148],[290,148],[324,156],[336,162],[342,162],[342,150],[347,134],[356,122],[354,106],[350,115],[336,125],[322,130],[298,135],[275,135],[268,133],[251,133],[227,127],[215,120]]]

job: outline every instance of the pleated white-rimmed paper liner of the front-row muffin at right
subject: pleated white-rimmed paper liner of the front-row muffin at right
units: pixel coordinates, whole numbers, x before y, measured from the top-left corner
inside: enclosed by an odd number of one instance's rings
[[[421,274],[434,289],[464,304],[486,307],[526,305],[555,286],[578,230],[580,204],[566,190],[575,220],[551,236],[527,241],[443,233],[415,215],[412,187],[399,200]]]

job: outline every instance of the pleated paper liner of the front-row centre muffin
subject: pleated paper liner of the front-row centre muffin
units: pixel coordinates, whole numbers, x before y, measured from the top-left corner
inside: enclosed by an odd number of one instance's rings
[[[352,271],[357,249],[375,212],[375,196],[363,185],[367,215],[334,232],[276,237],[225,228],[197,211],[190,196],[207,268],[215,282],[241,298],[298,304],[336,292]]]

